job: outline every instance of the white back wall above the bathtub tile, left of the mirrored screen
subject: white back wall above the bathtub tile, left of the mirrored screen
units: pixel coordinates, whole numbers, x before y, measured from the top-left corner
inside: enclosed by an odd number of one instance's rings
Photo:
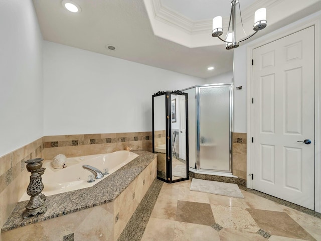
[[[44,41],[44,135],[151,131],[151,95],[204,80]]]

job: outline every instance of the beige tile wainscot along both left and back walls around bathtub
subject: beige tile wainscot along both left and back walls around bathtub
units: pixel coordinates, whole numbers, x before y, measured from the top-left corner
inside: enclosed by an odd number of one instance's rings
[[[24,161],[110,153],[124,150],[152,151],[151,132],[45,136],[0,157],[0,227],[16,206],[29,184],[30,173]]]

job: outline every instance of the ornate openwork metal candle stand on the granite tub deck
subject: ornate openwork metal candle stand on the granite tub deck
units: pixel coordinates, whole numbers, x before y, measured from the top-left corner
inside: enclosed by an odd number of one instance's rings
[[[28,172],[31,172],[30,183],[27,188],[27,194],[31,197],[22,215],[24,219],[30,215],[36,216],[38,213],[47,211],[47,206],[45,205],[46,196],[41,193],[44,189],[41,175],[44,174],[46,169],[42,167],[43,160],[42,158],[35,158],[25,161]]]

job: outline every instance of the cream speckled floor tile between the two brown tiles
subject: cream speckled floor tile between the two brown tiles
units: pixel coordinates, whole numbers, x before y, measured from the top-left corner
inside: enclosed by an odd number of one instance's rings
[[[216,223],[225,228],[257,232],[260,228],[244,208],[211,204]]]

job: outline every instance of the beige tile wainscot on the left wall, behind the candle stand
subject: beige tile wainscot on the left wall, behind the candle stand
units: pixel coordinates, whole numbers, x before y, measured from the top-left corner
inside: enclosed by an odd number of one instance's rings
[[[24,161],[43,157],[43,138],[0,157],[0,227],[29,184],[30,173]]]

